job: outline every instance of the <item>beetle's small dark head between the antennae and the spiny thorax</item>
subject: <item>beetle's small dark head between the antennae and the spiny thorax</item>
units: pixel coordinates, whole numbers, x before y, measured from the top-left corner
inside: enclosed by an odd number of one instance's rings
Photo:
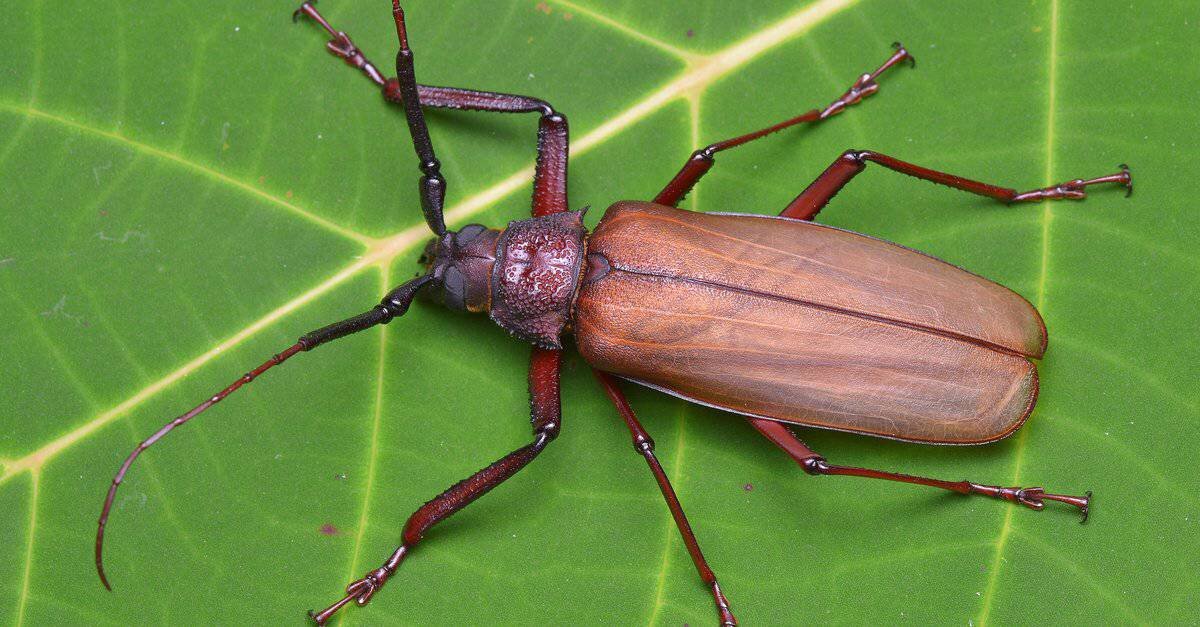
[[[482,225],[467,225],[430,240],[421,263],[437,286],[421,293],[449,309],[487,311],[499,235],[499,231]]]

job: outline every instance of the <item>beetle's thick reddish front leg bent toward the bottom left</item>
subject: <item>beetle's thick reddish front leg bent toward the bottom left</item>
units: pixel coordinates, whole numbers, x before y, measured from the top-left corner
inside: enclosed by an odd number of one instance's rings
[[[562,408],[558,393],[558,370],[562,364],[562,351],[534,348],[529,364],[529,396],[533,407],[533,442],[500,458],[491,466],[454,484],[446,491],[421,506],[404,524],[403,543],[379,568],[371,571],[362,579],[346,587],[346,596],[319,613],[308,611],[317,625],[325,625],[329,619],[352,601],[366,605],[371,597],[400,568],[408,555],[430,527],[445,520],[455,512],[467,507],[473,501],[487,494],[492,488],[504,483],[533,461],[554,437],[558,436],[562,423]]]

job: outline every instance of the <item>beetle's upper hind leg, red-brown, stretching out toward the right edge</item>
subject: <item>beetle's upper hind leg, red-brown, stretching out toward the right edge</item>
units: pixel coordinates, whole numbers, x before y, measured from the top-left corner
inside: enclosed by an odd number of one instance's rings
[[[1129,174],[1129,166],[1124,163],[1118,166],[1118,172],[1106,177],[1074,179],[1040,190],[1018,192],[1010,187],[989,185],[936,169],[923,168],[895,157],[871,153],[870,150],[847,150],[833,165],[826,168],[816,180],[809,184],[779,215],[797,220],[812,220],[851,179],[866,167],[868,162],[875,162],[901,174],[954,187],[955,190],[995,198],[1002,203],[1056,201],[1062,198],[1078,201],[1086,197],[1085,187],[1102,183],[1118,183],[1128,190],[1126,196],[1133,193],[1133,178]]]

